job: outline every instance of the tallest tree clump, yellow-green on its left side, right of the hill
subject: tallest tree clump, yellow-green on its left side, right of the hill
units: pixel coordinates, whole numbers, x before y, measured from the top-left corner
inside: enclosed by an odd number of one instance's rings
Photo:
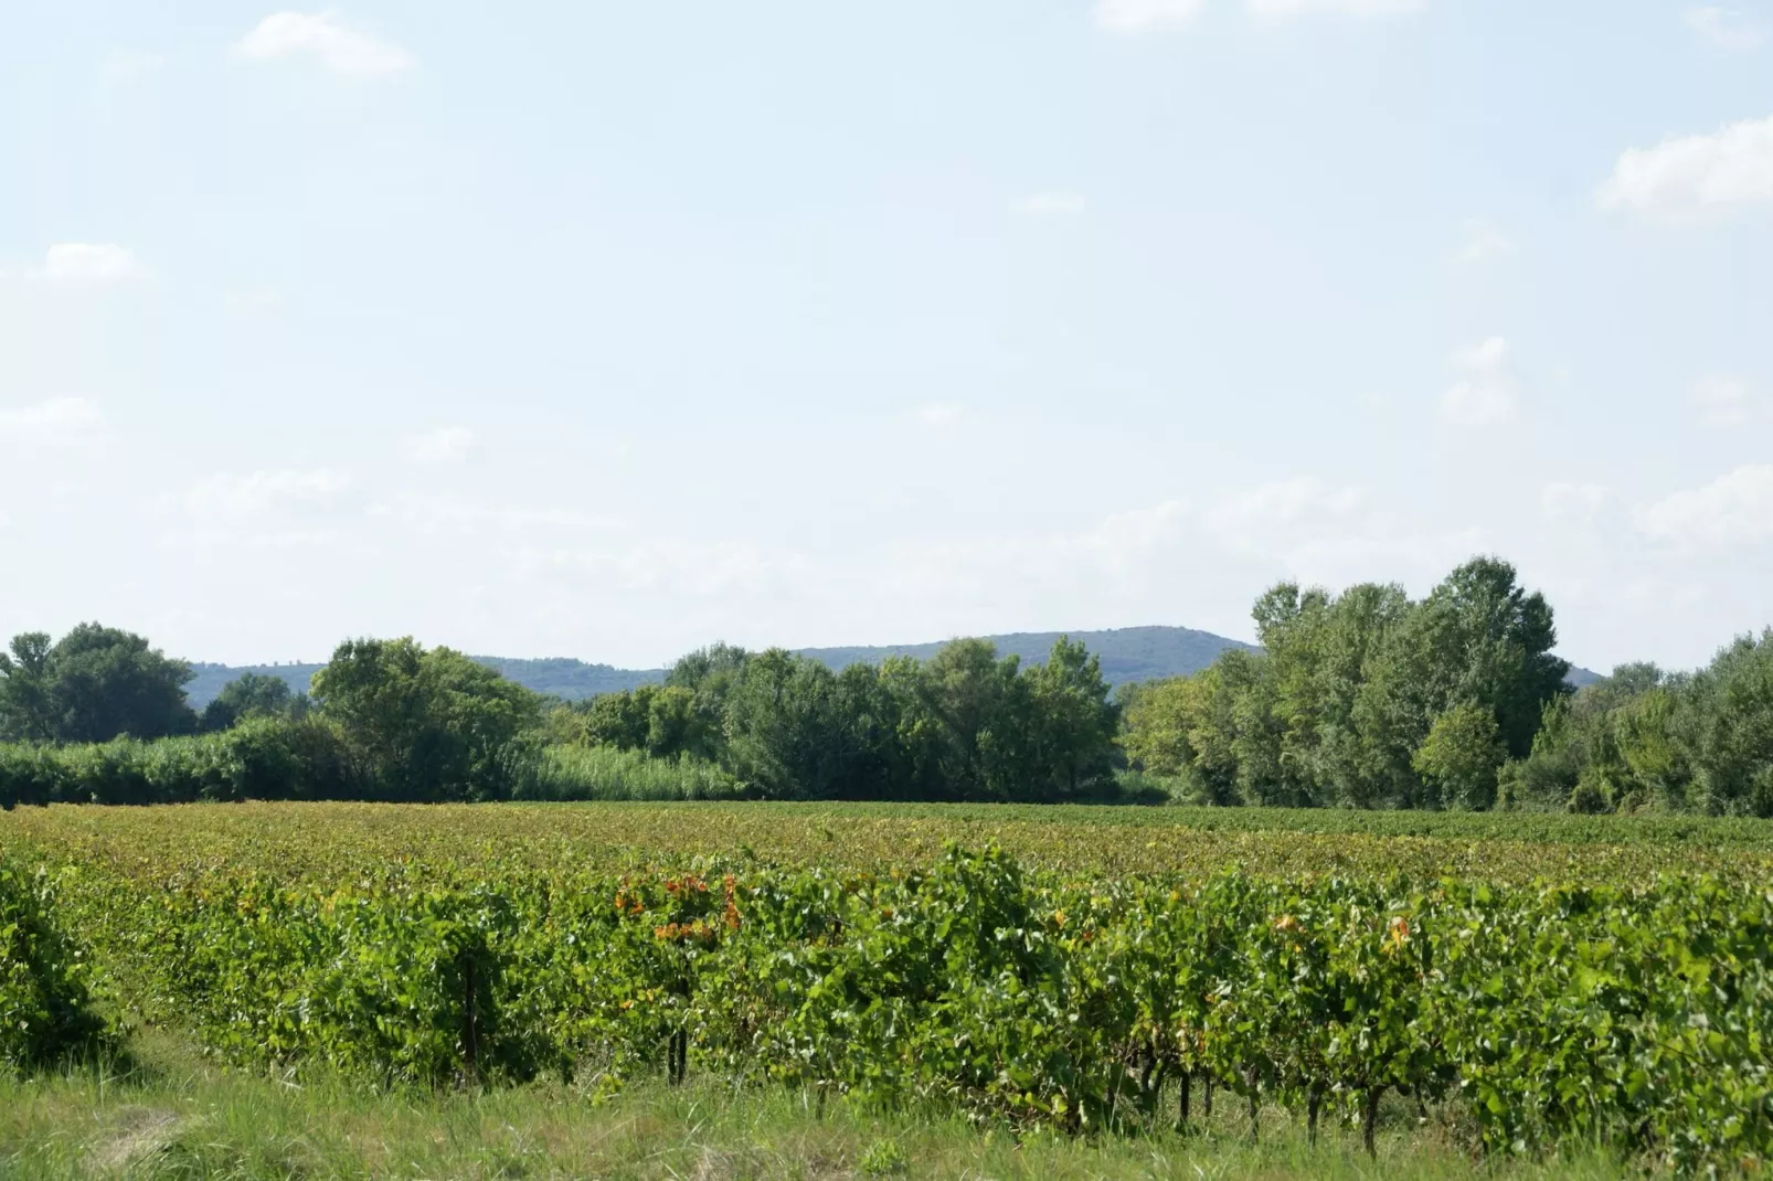
[[[1514,567],[1473,559],[1425,599],[1280,583],[1254,610],[1262,653],[1230,651],[1133,699],[1135,766],[1200,803],[1491,807],[1569,670],[1551,608]]]

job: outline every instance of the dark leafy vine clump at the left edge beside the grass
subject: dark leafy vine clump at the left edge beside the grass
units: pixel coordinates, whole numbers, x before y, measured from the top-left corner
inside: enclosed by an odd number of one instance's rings
[[[48,876],[0,856],[0,1066],[96,1044],[85,965],[51,920]]]

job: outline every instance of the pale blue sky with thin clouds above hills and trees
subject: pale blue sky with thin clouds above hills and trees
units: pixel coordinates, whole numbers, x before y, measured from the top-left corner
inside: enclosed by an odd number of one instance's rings
[[[273,0],[275,2],[275,0]],[[1773,0],[12,0],[0,635],[1773,624]]]

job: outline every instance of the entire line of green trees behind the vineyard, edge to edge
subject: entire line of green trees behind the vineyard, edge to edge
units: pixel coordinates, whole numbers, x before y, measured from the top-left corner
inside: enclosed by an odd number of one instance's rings
[[[580,755],[622,752],[777,800],[1773,816],[1773,630],[1573,692],[1551,606],[1498,559],[1422,599],[1280,583],[1252,614],[1261,649],[1119,693],[1067,638],[1044,663],[954,640],[840,672],[716,644],[567,704],[399,638],[340,644],[310,693],[246,674],[202,713],[190,665],[82,624],[0,653],[0,802],[583,798],[606,786],[574,782]]]

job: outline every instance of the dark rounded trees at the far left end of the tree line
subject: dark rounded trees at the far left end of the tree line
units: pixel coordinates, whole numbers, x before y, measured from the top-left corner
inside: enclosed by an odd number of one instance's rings
[[[186,734],[197,727],[181,688],[190,679],[190,665],[129,631],[89,622],[53,645],[46,633],[27,631],[0,653],[0,739]]]

